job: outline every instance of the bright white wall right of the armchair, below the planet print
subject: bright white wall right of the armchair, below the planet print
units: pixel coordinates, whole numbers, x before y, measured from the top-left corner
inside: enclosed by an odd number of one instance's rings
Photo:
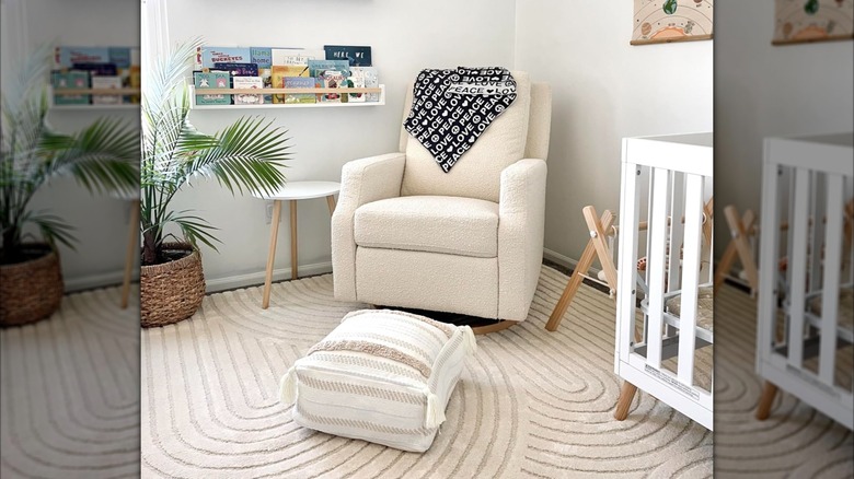
[[[581,208],[619,210],[623,137],[712,130],[717,40],[631,46],[632,22],[628,1],[517,1],[516,67],[554,94],[545,219],[554,259],[580,257]]]

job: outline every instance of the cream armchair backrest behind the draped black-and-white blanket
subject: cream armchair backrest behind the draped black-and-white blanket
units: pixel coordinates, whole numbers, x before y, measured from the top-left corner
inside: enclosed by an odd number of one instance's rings
[[[513,71],[517,98],[445,173],[418,140],[401,127],[400,150],[406,153],[401,195],[445,195],[498,201],[500,174],[523,157],[545,160],[552,118],[552,91],[531,83],[527,72]],[[404,118],[412,108],[413,85],[404,101]]]

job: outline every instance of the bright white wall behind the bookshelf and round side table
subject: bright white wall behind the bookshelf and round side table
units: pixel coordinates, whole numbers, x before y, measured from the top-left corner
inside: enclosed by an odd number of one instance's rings
[[[292,138],[295,155],[286,172],[290,180],[339,180],[347,161],[396,151],[406,85],[420,69],[513,62],[513,0],[256,0],[250,9],[236,5],[233,0],[170,2],[171,40],[201,35],[211,46],[370,45],[380,83],[386,86],[385,106],[264,109],[264,116],[288,129]],[[195,110],[191,120],[212,133],[256,112]],[[209,290],[263,281],[269,240],[263,201],[232,197],[211,183],[182,191],[175,207],[197,208],[221,229],[219,254],[203,248]],[[278,279],[290,277],[287,218],[286,208],[276,259]],[[325,200],[300,201],[298,218],[300,274],[330,271]]]

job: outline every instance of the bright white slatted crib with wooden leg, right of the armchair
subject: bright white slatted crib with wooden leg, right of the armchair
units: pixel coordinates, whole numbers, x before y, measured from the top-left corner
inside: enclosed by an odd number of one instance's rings
[[[712,234],[703,208],[712,177],[711,132],[623,140],[614,372],[625,384],[619,420],[639,387],[713,429],[713,364],[705,349],[714,343]],[[636,266],[642,257],[643,272]]]

